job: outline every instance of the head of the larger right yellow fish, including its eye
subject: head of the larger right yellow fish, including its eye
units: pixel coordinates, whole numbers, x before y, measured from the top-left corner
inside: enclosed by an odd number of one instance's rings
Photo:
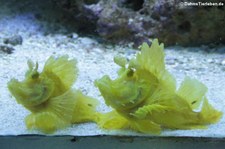
[[[133,69],[122,68],[115,80],[104,76],[95,81],[107,105],[118,111],[131,110],[143,101],[143,86]]]

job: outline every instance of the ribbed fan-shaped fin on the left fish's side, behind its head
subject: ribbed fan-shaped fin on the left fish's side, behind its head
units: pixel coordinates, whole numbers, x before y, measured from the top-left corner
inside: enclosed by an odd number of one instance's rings
[[[46,110],[53,112],[64,121],[71,122],[76,103],[75,94],[75,91],[71,89],[60,96],[51,98]]]

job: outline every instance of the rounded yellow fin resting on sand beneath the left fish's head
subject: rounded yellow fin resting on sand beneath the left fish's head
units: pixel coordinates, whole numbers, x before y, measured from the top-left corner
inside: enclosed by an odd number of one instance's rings
[[[33,113],[26,117],[26,126],[28,129],[39,129],[44,133],[53,133],[57,129],[65,128],[68,122],[61,120],[54,113],[41,112]]]

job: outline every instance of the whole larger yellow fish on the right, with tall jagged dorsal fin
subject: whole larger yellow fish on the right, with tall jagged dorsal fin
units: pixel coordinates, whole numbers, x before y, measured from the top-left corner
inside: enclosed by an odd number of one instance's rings
[[[102,114],[100,127],[158,134],[162,128],[205,128],[221,118],[222,113],[207,101],[207,87],[198,80],[186,77],[176,89],[174,77],[165,69],[163,50],[157,39],[151,47],[143,43],[129,62],[114,58],[121,66],[118,78],[103,76],[95,81],[106,104],[114,108]]]

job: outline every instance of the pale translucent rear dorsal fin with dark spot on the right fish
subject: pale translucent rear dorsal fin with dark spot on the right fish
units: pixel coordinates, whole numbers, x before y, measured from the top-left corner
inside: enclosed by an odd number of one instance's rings
[[[207,87],[196,79],[185,77],[177,94],[184,98],[192,109],[197,109],[207,92]]]

